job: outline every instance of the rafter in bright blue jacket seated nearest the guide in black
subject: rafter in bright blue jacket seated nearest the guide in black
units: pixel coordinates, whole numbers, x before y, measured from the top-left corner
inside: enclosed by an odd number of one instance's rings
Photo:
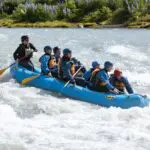
[[[58,77],[58,65],[56,59],[52,56],[52,48],[50,46],[44,47],[44,55],[41,56],[39,62],[41,63],[41,73],[48,76]]]

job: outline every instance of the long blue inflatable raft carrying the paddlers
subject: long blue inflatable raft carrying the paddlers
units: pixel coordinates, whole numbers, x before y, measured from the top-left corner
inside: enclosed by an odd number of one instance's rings
[[[13,78],[21,83],[21,81],[24,80],[25,78],[39,75],[40,69],[36,68],[35,73],[23,67],[13,66],[11,67],[10,72]],[[138,94],[114,95],[114,94],[98,93],[95,91],[91,91],[87,88],[83,88],[80,86],[73,86],[71,84],[69,84],[67,87],[64,88],[64,84],[65,83],[60,80],[43,75],[28,83],[29,86],[54,91],[75,100],[89,102],[104,107],[111,107],[111,106],[121,108],[144,107],[148,106],[150,102],[148,98],[144,98],[143,96]]]

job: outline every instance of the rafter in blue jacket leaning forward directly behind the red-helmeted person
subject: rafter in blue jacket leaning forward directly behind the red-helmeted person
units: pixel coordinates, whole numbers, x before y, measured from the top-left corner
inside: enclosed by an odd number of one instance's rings
[[[108,92],[119,94],[119,90],[116,89],[109,81],[108,73],[113,69],[113,64],[106,61],[104,64],[104,69],[97,69],[93,71],[91,77],[92,89],[98,92]]]

